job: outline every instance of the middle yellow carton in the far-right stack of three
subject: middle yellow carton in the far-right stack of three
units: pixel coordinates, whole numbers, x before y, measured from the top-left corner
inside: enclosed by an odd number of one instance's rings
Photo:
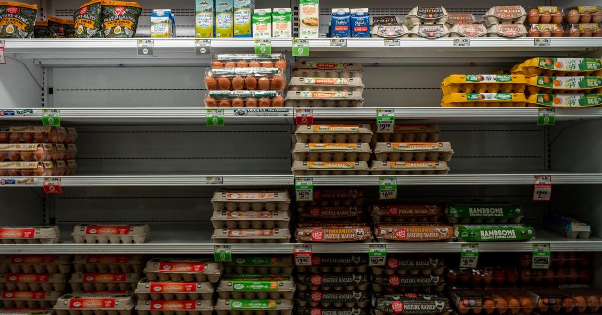
[[[529,94],[537,93],[602,93],[602,76],[530,76]]]

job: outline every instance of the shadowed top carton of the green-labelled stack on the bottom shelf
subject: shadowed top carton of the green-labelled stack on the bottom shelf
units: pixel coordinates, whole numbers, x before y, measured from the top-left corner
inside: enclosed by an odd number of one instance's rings
[[[293,258],[290,255],[257,256],[236,255],[224,264],[224,273],[269,273],[290,275],[293,273]]]

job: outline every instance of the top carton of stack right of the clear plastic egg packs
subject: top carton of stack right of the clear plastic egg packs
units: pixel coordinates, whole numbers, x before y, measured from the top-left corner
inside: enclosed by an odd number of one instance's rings
[[[293,77],[310,78],[361,78],[364,68],[361,63],[330,63],[297,61],[293,66]]]

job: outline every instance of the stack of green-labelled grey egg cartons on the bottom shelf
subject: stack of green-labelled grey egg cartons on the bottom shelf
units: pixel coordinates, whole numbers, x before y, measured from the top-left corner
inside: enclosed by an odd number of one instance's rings
[[[224,263],[216,313],[292,314],[293,260],[288,256],[241,255]]]

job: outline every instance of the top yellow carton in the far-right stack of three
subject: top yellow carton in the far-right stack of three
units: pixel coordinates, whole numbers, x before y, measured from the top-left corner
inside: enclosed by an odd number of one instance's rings
[[[602,75],[600,58],[536,57],[525,61],[521,69],[524,76],[577,76]]]

